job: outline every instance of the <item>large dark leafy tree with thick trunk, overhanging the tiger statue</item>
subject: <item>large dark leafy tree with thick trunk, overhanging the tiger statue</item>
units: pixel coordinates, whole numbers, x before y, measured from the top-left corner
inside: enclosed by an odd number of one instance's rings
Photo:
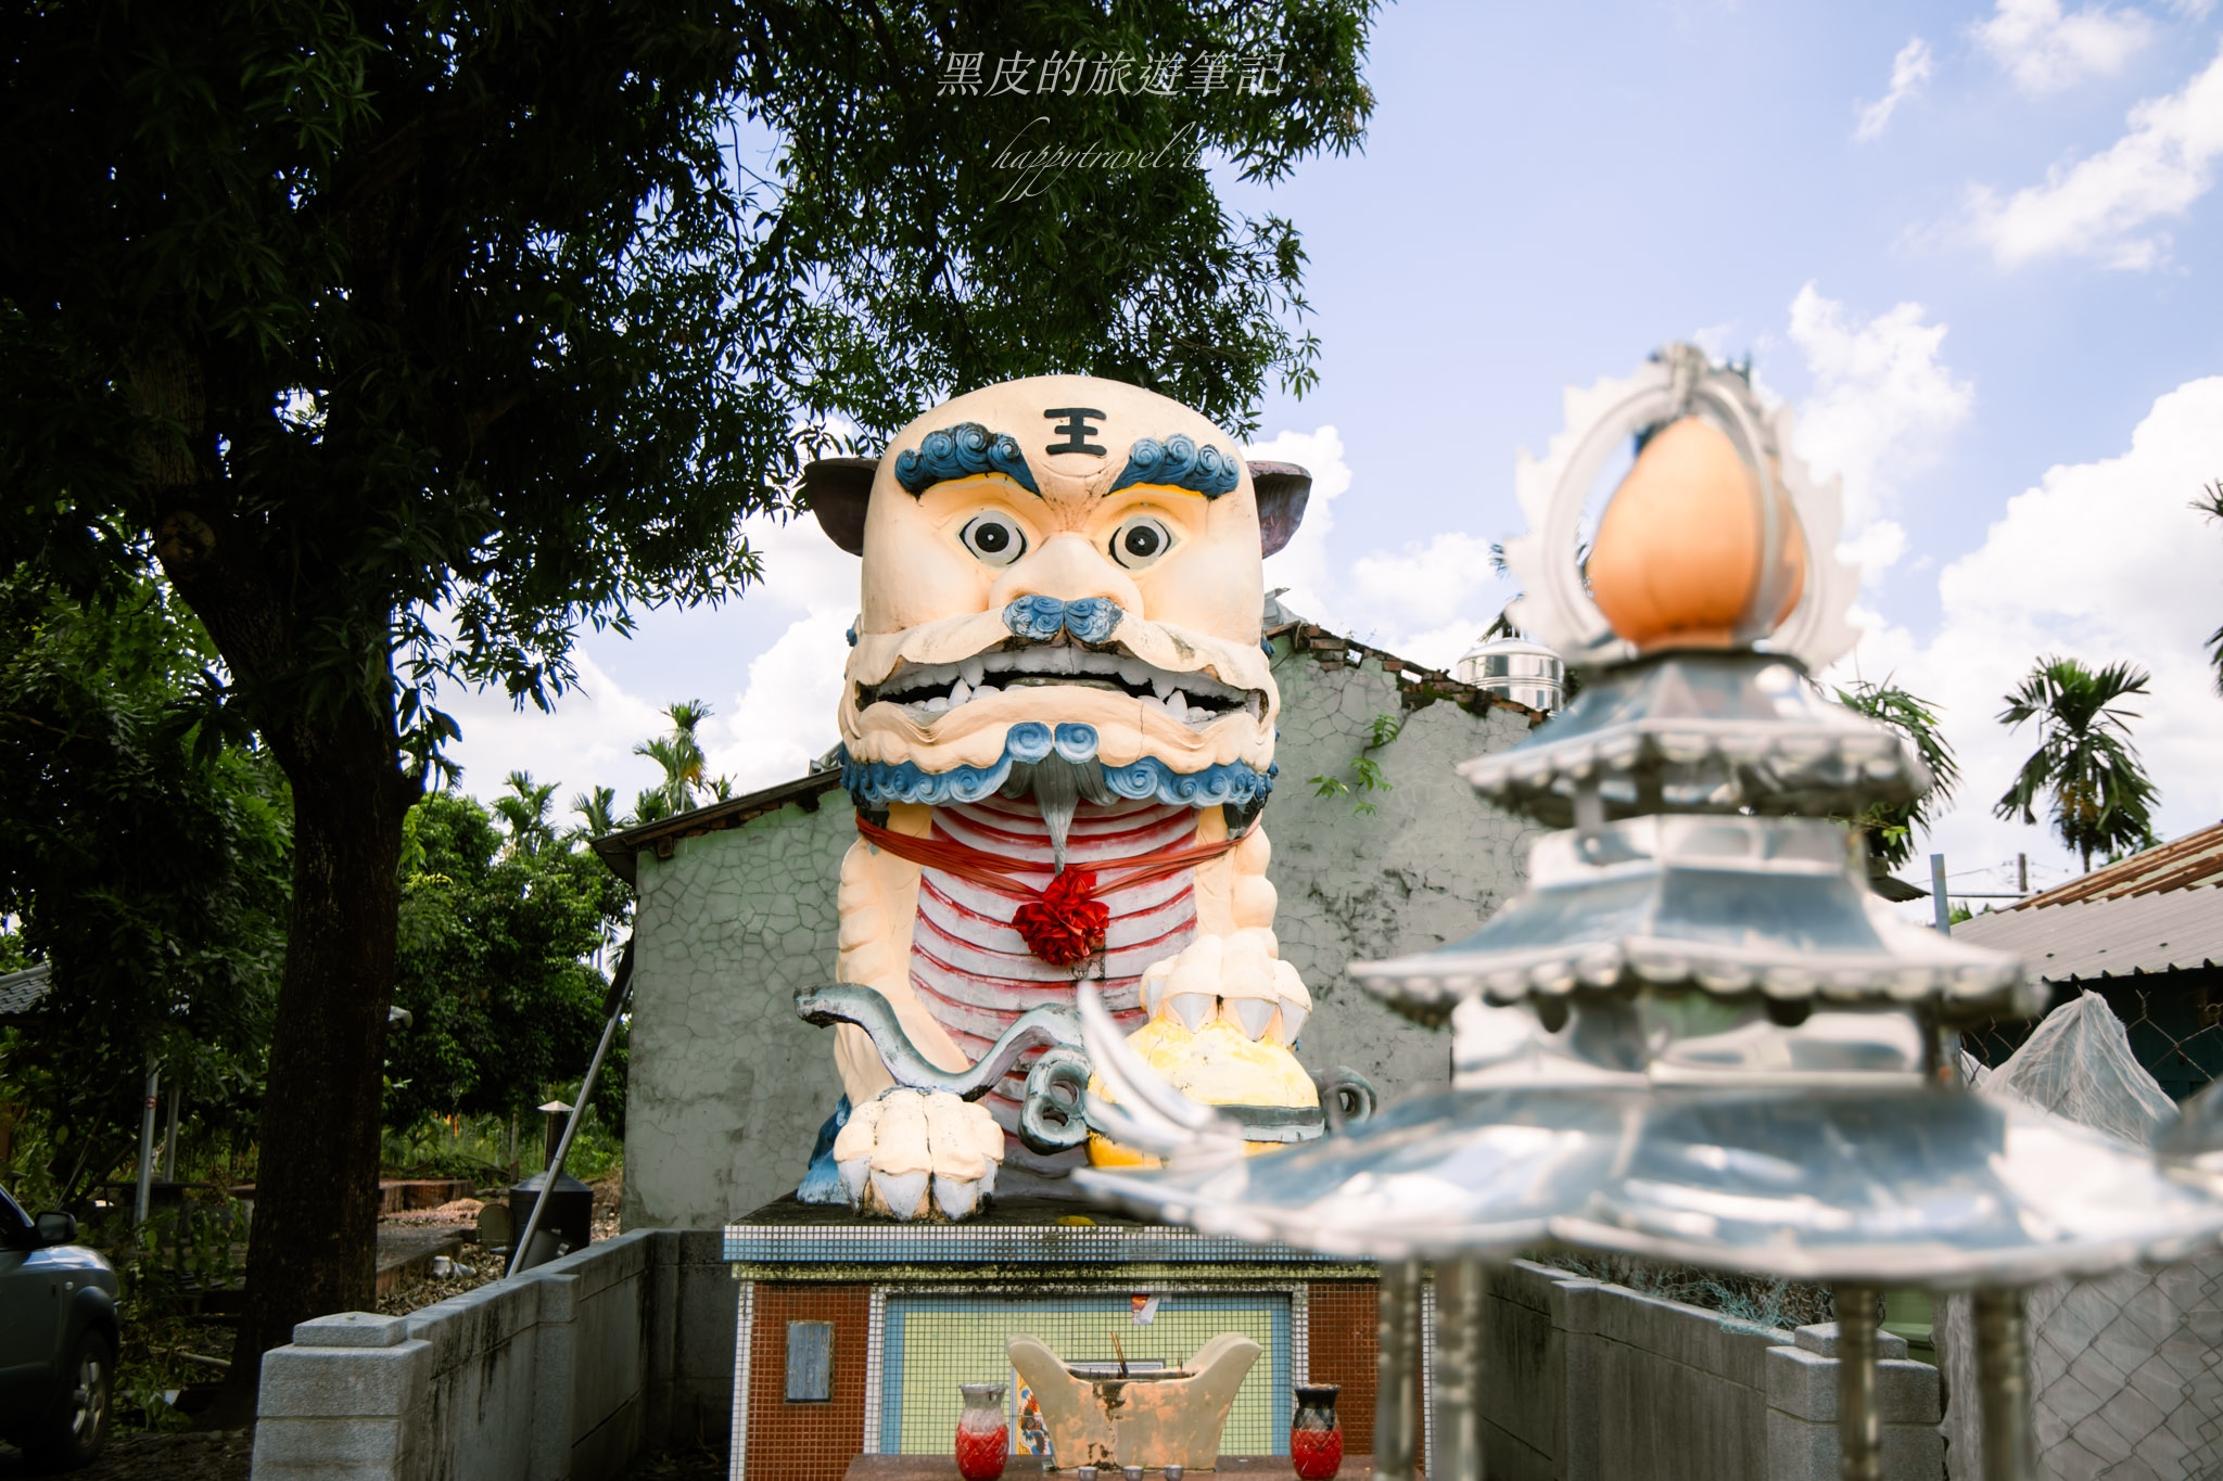
[[[1223,209],[1203,155],[1276,180],[1354,149],[1372,9],[0,11],[4,138],[36,140],[0,153],[0,568],[98,591],[153,553],[293,790],[233,1412],[296,1321],[371,1301],[402,815],[456,735],[436,686],[547,704],[580,624],[745,586],[738,515],[785,504],[836,415],[871,442],[956,386],[1091,371],[1254,426],[1272,377],[1312,380],[1303,249]],[[945,93],[967,51],[1283,82]],[[734,178],[740,127],[780,138],[767,173]],[[1163,162],[1014,191],[1020,129]]]

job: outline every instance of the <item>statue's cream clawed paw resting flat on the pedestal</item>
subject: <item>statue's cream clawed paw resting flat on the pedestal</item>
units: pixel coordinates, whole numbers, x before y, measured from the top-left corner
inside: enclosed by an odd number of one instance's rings
[[[834,1139],[849,1206],[896,1219],[927,1217],[929,1192],[945,1217],[967,1217],[996,1190],[1000,1161],[996,1117],[943,1090],[885,1090]]]

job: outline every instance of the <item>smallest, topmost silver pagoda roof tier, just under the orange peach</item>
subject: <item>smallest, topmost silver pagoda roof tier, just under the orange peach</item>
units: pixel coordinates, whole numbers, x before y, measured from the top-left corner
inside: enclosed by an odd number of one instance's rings
[[[1885,726],[1830,704],[1794,657],[1676,651],[1596,673],[1549,724],[1458,768],[1476,793],[1554,828],[1596,788],[1603,817],[1854,817],[1930,790]]]

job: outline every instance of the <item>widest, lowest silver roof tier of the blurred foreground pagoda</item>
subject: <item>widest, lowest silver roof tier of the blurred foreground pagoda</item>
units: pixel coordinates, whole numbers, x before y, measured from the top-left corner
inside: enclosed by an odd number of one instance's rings
[[[2139,1148],[1961,1088],[1438,1090],[1285,1152],[1194,1146],[1074,1181],[1205,1235],[1323,1255],[1567,1243],[1876,1286],[2032,1286],[2223,1235],[2223,1203]]]

